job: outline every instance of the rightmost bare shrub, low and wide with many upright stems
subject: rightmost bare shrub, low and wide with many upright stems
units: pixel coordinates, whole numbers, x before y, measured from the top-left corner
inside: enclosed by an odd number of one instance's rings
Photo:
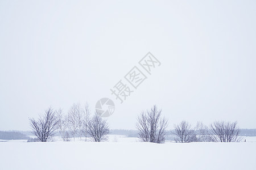
[[[214,142],[240,142],[240,129],[235,122],[215,121],[210,125],[212,140]]]

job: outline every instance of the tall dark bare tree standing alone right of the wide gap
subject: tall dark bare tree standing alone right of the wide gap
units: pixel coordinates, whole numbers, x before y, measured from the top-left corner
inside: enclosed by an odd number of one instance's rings
[[[162,110],[154,105],[149,111],[142,112],[137,118],[136,127],[143,142],[163,143],[165,141],[167,120],[161,118]]]

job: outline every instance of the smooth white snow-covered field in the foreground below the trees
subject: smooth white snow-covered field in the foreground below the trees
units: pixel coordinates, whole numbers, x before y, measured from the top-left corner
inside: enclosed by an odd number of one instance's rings
[[[255,137],[241,143],[0,142],[0,169],[256,169]],[[130,141],[129,141],[130,140]]]

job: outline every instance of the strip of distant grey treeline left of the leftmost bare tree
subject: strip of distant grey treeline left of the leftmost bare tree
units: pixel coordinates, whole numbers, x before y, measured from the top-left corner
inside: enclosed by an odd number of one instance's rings
[[[3,140],[18,140],[29,139],[29,137],[20,131],[0,131],[0,139]]]

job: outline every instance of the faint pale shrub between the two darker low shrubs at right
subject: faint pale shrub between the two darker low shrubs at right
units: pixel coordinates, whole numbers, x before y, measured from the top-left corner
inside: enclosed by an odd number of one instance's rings
[[[197,142],[210,142],[212,139],[210,138],[209,129],[207,126],[203,124],[203,122],[197,122],[195,128],[196,141]]]

